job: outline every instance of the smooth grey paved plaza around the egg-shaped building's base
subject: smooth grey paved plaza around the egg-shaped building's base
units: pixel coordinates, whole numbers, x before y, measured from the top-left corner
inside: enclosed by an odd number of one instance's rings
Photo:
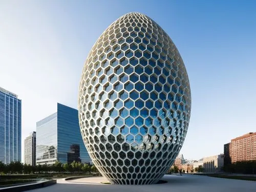
[[[162,180],[168,181],[154,185],[111,185],[101,184],[103,177],[80,178],[70,181],[58,179],[57,184],[45,188],[30,190],[30,192],[126,192],[126,191],[175,191],[175,192],[255,192],[255,181],[214,178],[197,175],[165,175]]]

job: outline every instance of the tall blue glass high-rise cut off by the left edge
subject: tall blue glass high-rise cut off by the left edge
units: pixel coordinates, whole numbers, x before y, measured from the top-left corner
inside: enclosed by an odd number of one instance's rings
[[[0,87],[0,161],[21,160],[22,100]]]

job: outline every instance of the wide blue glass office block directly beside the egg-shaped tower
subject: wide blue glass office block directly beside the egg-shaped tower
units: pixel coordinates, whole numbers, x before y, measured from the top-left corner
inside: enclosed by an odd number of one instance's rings
[[[57,103],[57,112],[36,123],[36,164],[91,163],[81,137],[78,111]]]

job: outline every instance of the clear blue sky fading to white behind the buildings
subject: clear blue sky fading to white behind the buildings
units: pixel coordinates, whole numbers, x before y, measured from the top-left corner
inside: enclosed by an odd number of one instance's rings
[[[22,140],[57,102],[77,108],[94,42],[118,17],[141,12],[173,39],[190,79],[181,153],[223,153],[224,143],[256,131],[255,10],[255,1],[1,1],[0,87],[23,100]]]

